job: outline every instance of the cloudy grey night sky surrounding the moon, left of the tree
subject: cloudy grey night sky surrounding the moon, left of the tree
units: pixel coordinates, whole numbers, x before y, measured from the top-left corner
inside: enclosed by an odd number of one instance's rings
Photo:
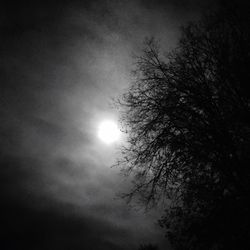
[[[210,2],[46,1],[0,9],[0,248],[171,249],[159,211],[131,208],[111,168],[123,138],[97,137],[118,119],[112,98],[131,81],[145,37],[174,48],[179,27]]]

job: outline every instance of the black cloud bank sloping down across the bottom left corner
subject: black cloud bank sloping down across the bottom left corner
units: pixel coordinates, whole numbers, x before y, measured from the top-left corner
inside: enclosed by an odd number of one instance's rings
[[[127,237],[125,230],[69,212],[67,206],[60,208],[35,210],[19,203],[3,206],[1,249],[125,249],[117,244]]]

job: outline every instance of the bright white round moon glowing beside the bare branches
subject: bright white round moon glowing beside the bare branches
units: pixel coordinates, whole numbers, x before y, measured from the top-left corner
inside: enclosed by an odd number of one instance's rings
[[[112,120],[105,120],[99,124],[98,137],[106,144],[116,142],[120,138],[120,130]]]

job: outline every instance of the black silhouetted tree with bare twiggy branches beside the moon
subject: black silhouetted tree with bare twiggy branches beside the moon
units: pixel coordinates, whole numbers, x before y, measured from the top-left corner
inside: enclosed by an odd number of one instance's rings
[[[119,100],[126,196],[170,201],[160,224],[176,249],[250,249],[248,13],[229,4],[204,16],[165,56],[147,39]]]

